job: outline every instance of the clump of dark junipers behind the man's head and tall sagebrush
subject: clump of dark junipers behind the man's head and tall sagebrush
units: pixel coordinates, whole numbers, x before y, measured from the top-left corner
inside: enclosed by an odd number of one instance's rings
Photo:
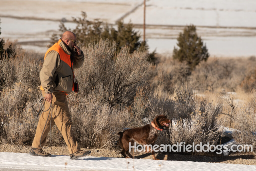
[[[132,53],[135,50],[148,51],[148,45],[146,42],[140,40],[138,31],[134,30],[134,26],[131,23],[124,24],[119,21],[117,23],[117,30],[110,27],[108,24],[105,26],[99,20],[90,21],[87,19],[85,12],[82,12],[82,16],[73,18],[73,22],[76,23],[76,28],[71,30],[76,33],[77,40],[83,42],[85,45],[91,42],[97,42],[100,38],[110,39],[116,42],[116,53],[120,51],[122,47],[128,45],[130,47],[129,52]],[[59,25],[59,31],[63,33],[67,29],[63,22]],[[60,37],[61,35],[59,35]],[[51,37],[51,44],[53,45],[58,41],[58,35],[53,34]],[[148,53],[148,60],[153,61],[155,51],[151,54]]]

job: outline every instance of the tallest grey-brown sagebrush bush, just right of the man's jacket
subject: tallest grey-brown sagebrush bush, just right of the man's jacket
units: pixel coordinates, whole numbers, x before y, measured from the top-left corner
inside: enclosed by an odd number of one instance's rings
[[[115,55],[115,43],[109,40],[81,47],[85,62],[75,71],[81,96],[95,93],[102,103],[111,106],[131,104],[137,87],[144,84],[148,74],[146,53],[130,54],[125,46]]]

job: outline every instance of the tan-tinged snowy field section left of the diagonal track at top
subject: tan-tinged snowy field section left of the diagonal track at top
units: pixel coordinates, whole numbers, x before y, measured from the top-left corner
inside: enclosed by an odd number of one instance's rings
[[[126,3],[26,0],[0,0],[0,4],[0,15],[2,16],[34,17],[46,20],[66,18],[67,20],[72,20],[72,17],[81,16],[81,11],[84,11],[87,13],[88,19],[100,18],[108,23],[114,23],[136,5]],[[59,24],[59,22],[57,23]]]

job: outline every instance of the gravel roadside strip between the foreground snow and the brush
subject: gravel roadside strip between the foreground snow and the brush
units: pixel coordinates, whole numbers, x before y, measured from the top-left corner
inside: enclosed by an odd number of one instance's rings
[[[1,144],[0,152],[13,152],[13,153],[28,153],[31,146],[20,146],[16,144]],[[86,148],[81,148],[86,150]],[[110,149],[91,149],[90,156],[96,157],[121,157],[121,153],[118,150]],[[52,155],[70,155],[67,146],[51,146],[45,149],[47,153]],[[131,153],[132,154],[132,153]],[[135,158],[152,159],[151,153],[134,153]],[[166,153],[156,153],[156,158],[163,159]],[[193,161],[193,162],[208,162],[208,163],[231,163],[231,164],[246,164],[256,165],[256,159],[252,153],[231,153],[229,156],[223,157],[215,153],[196,153],[195,155],[180,155],[180,154],[168,154],[167,160],[176,161]]]

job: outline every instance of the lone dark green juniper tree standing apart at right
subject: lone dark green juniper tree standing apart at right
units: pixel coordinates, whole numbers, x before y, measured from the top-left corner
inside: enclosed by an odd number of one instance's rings
[[[179,61],[186,61],[190,69],[193,70],[202,60],[209,57],[208,49],[203,44],[201,37],[197,36],[196,27],[194,25],[186,26],[183,33],[177,38],[177,46],[174,47],[173,58]]]

